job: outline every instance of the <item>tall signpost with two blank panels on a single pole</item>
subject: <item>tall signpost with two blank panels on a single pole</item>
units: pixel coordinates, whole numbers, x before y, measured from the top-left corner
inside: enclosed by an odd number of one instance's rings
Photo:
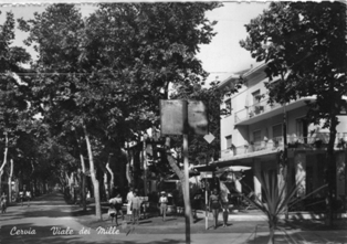
[[[199,100],[160,100],[160,129],[161,135],[183,136],[186,243],[190,244],[188,130],[198,135],[207,134],[208,119],[203,103]]]

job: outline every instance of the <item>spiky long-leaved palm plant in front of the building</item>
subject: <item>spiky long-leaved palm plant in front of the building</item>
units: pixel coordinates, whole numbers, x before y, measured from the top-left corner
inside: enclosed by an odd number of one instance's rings
[[[275,243],[275,231],[277,229],[278,220],[286,213],[286,211],[291,206],[297,204],[299,201],[303,201],[309,195],[327,187],[327,184],[322,185],[315,189],[309,194],[297,198],[297,194],[301,191],[301,182],[304,180],[305,178],[299,179],[296,184],[294,184],[291,189],[288,189],[288,191],[286,191],[287,181],[278,183],[275,174],[269,174],[266,171],[263,171],[259,178],[259,181],[262,184],[262,189],[264,192],[263,200],[254,194],[254,192],[252,192],[252,194],[244,195],[244,198],[252,205],[261,210],[267,216],[267,223],[270,229],[269,244]],[[249,188],[246,184],[244,185]]]

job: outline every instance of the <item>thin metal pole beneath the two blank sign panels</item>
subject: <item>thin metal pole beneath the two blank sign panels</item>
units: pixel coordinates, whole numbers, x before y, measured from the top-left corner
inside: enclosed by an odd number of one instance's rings
[[[189,161],[188,161],[188,135],[183,134],[183,163],[185,163],[185,216],[186,216],[186,243],[190,244],[190,197],[189,197]]]

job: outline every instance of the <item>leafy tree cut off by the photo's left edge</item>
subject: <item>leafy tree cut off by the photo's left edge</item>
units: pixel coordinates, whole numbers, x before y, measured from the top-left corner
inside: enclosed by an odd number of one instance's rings
[[[1,11],[0,11],[1,14]],[[13,73],[23,72],[21,64],[29,62],[30,55],[22,47],[11,46],[14,40],[14,19],[13,13],[8,12],[3,24],[0,25],[0,132],[4,135],[3,149],[4,158],[0,167],[0,192],[1,176],[7,165],[9,149],[17,142],[20,121],[24,118],[28,104],[25,94],[21,89],[21,84]],[[11,163],[12,177],[13,165]]]

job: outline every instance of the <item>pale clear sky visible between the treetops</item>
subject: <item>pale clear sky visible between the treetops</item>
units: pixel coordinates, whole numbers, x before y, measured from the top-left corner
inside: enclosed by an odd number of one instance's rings
[[[248,34],[244,24],[250,23],[251,19],[261,14],[264,9],[269,8],[269,4],[255,1],[228,1],[223,2],[223,7],[206,13],[209,20],[218,21],[217,25],[214,25],[217,34],[210,44],[200,45],[200,53],[198,54],[203,68],[210,73],[207,83],[214,79],[224,81],[233,73],[250,68],[251,65],[259,65],[251,57],[250,52],[240,46],[239,42],[245,39]],[[93,3],[84,3],[78,7],[84,17],[95,9]],[[29,20],[33,18],[34,12],[41,12],[45,8],[46,6],[40,4],[0,6],[0,11],[2,12],[0,14],[0,24],[3,23],[4,12],[7,11],[12,11],[14,19],[23,18]],[[25,35],[27,33],[18,30],[13,45],[24,46],[22,41]],[[32,49],[27,49],[32,55],[35,55]]]

